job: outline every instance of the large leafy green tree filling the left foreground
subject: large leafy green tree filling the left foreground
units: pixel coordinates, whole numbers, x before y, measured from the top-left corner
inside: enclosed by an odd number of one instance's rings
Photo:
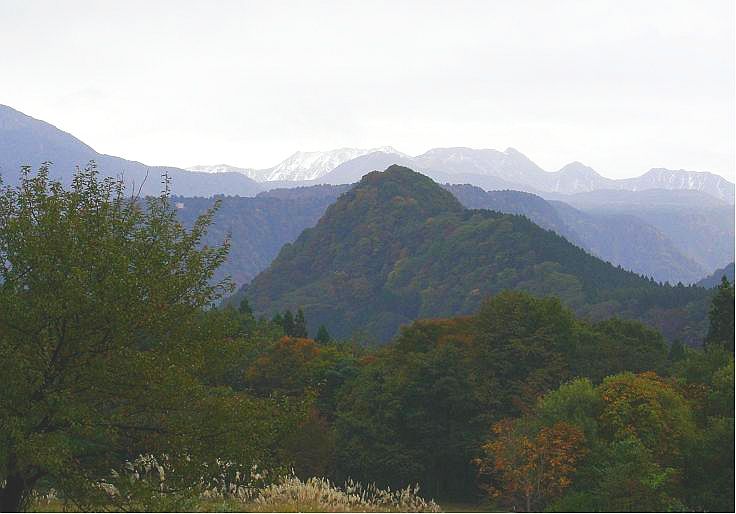
[[[224,339],[206,309],[230,289],[211,282],[227,243],[200,244],[211,219],[187,231],[166,193],[127,197],[93,165],[69,188],[48,165],[2,188],[0,511],[42,484],[80,508],[130,500],[103,485],[140,455],[165,456],[179,491],[266,458],[277,406],[204,380]]]

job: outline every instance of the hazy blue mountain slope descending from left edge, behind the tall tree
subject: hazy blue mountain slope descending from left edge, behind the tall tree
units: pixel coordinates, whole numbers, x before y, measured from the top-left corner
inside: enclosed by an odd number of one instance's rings
[[[227,192],[252,196],[262,190],[258,183],[240,173],[195,173],[100,154],[49,123],[0,105],[0,175],[6,183],[18,181],[21,166],[35,169],[45,161],[53,162],[53,177],[69,183],[76,167],[84,167],[90,160],[97,163],[103,175],[123,176],[131,189],[141,188],[144,195],[160,193],[163,173],[171,178],[171,190],[176,194],[211,196]]]

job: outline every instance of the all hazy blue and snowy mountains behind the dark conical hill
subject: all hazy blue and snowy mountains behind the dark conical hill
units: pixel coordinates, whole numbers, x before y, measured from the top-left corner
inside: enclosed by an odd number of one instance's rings
[[[314,225],[349,188],[346,184],[397,162],[447,184],[465,207],[522,214],[595,256],[658,281],[691,283],[733,261],[734,216],[728,192],[733,184],[707,173],[652,170],[640,179],[611,181],[580,163],[546,172],[513,149],[446,148],[410,157],[391,147],[297,152],[260,171],[227,165],[191,171],[101,154],[53,125],[0,106],[0,175],[5,183],[18,180],[22,165],[38,167],[44,161],[53,161],[52,175],[68,182],[75,167],[90,160],[101,173],[122,175],[131,190],[140,188],[144,195],[159,194],[161,174],[166,173],[172,193],[188,198],[183,202],[188,207],[180,213],[183,219],[212,203],[195,197],[233,196],[216,217],[212,232],[224,235],[220,229],[230,227],[237,234],[242,247],[233,246],[225,269],[238,284],[267,267],[281,244]],[[281,180],[293,177],[305,180]],[[312,186],[318,183],[327,185]],[[548,190],[539,191],[541,186]],[[589,191],[614,186],[643,189]],[[665,189],[647,189],[655,186]],[[264,191],[272,188],[277,189]],[[582,191],[554,192],[577,190]],[[260,200],[252,201],[256,195]],[[309,203],[305,195],[322,198]],[[285,207],[284,202],[272,201],[276,198],[296,203]],[[289,213],[290,219],[282,213]]]

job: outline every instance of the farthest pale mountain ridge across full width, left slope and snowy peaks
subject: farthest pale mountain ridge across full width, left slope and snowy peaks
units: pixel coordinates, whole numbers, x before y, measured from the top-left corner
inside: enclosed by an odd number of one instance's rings
[[[144,194],[160,191],[160,175],[172,179],[172,190],[186,196],[229,194],[254,196],[273,187],[354,183],[377,169],[400,164],[419,171],[439,183],[472,184],[486,190],[513,189],[549,195],[576,195],[598,191],[647,191],[653,189],[692,191],[703,199],[734,204],[735,186],[712,173],[654,168],[640,177],[613,180],[579,162],[558,171],[545,171],[513,148],[501,152],[465,147],[433,148],[411,157],[384,146],[339,148],[327,152],[296,152],[267,169],[241,168],[228,164],[193,166],[183,170],[101,154],[73,135],[55,126],[0,105],[0,174],[13,183],[22,165],[37,168],[52,161],[52,174],[68,179],[76,166],[95,160],[110,176],[124,176]],[[606,193],[609,194],[609,193]],[[707,196],[705,196],[707,195]],[[565,198],[553,198],[562,199]],[[568,202],[572,203],[572,202]]]

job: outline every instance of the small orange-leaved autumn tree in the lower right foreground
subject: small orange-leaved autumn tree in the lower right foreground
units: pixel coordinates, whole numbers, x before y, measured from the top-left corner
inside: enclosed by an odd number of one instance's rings
[[[540,510],[571,483],[578,461],[587,453],[583,432],[563,422],[525,430],[521,420],[493,425],[478,465],[491,497],[515,511]]]

